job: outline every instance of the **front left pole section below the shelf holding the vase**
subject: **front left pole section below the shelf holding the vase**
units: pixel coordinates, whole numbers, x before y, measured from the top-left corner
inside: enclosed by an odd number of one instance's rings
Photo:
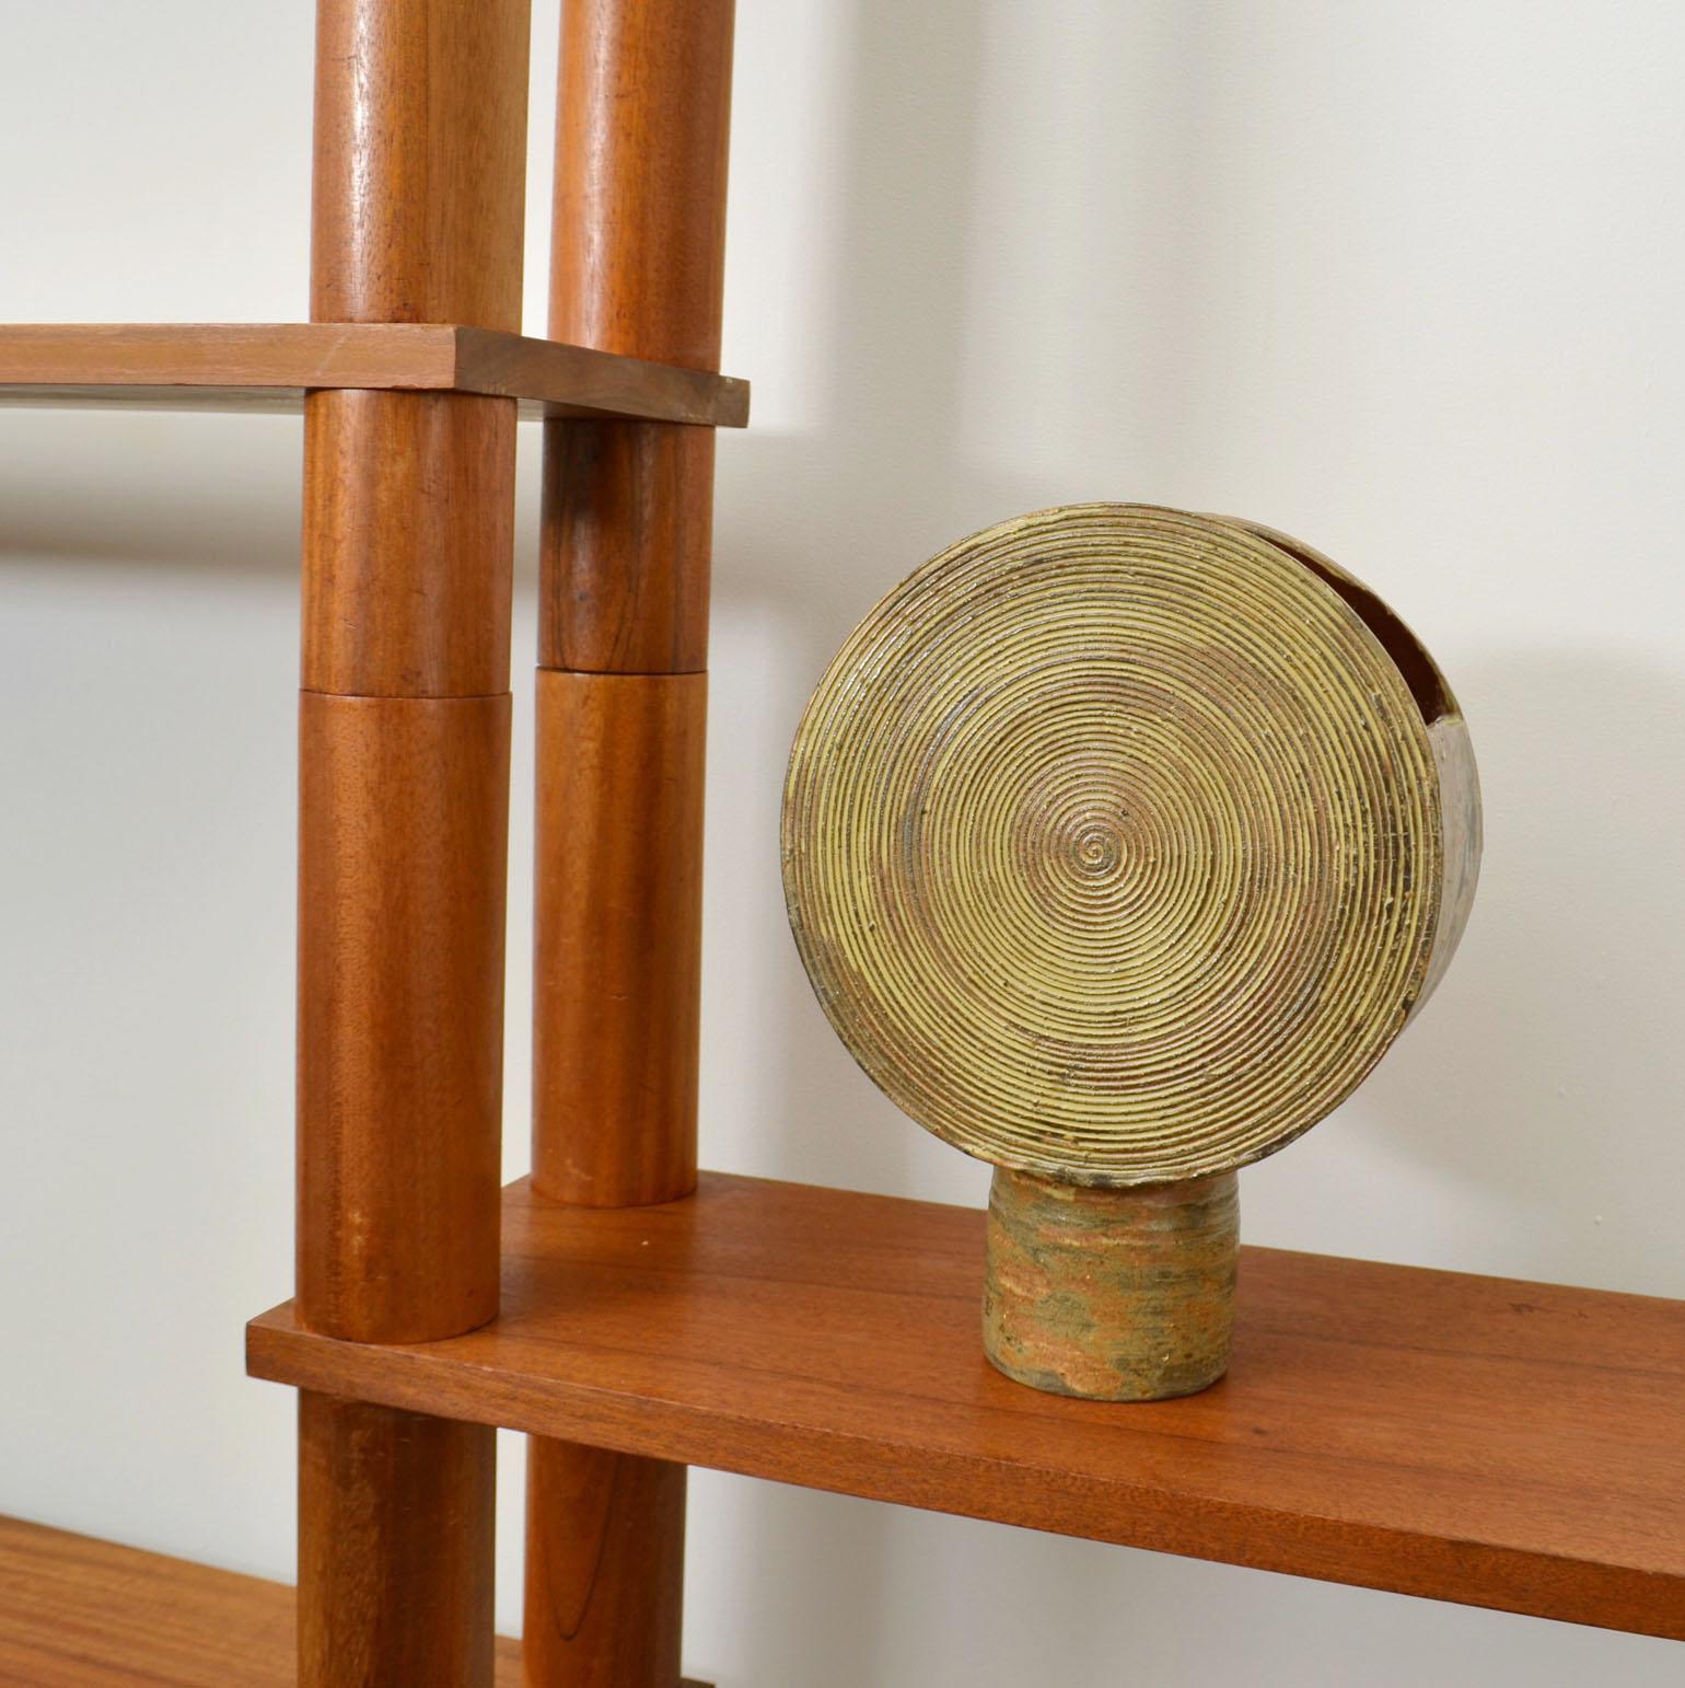
[[[496,1431],[299,1394],[299,1680],[491,1688]]]

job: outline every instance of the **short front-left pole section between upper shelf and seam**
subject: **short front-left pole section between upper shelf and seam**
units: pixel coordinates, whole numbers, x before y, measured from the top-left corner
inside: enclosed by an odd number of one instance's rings
[[[312,692],[509,689],[514,405],[312,393],[304,412],[304,658]]]

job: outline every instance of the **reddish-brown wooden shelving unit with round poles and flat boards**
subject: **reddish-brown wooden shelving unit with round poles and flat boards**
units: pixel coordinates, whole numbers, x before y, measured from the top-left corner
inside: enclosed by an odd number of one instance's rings
[[[299,1680],[513,1668],[487,1426],[535,1438],[533,1688],[678,1681],[690,1463],[1685,1637],[1682,1303],[1252,1249],[1228,1379],[1101,1406],[985,1364],[978,1214],[695,1183],[732,5],[565,0],[552,339],[526,37],[525,0],[319,0],[314,321],[0,329],[0,403],[305,415],[299,1285],[248,1334],[300,1391]],[[499,1293],[518,410],[543,1193]],[[0,1570],[25,1680],[292,1680],[266,1585],[30,1526]]]

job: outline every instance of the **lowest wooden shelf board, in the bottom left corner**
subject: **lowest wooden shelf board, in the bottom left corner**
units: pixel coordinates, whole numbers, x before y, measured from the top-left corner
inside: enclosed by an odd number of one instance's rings
[[[285,1583],[0,1518],[0,1688],[299,1680]],[[498,1688],[521,1688],[521,1644],[504,1636]]]

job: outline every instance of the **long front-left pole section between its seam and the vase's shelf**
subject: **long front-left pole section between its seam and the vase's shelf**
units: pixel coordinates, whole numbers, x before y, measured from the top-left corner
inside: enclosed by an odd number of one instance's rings
[[[509,699],[299,716],[299,1303],[361,1340],[498,1307]]]

